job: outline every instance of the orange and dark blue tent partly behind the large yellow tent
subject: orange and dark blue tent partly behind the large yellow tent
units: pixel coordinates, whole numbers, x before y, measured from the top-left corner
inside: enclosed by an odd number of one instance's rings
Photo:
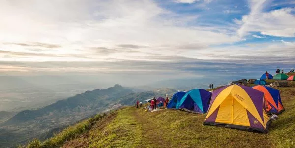
[[[261,85],[255,86],[253,89],[265,94],[264,104],[267,112],[279,114],[284,110],[279,90]]]

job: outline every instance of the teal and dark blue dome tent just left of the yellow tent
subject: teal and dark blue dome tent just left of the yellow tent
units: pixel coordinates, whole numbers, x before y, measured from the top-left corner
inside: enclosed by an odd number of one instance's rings
[[[207,112],[212,93],[204,89],[192,89],[181,98],[176,109],[204,114]]]

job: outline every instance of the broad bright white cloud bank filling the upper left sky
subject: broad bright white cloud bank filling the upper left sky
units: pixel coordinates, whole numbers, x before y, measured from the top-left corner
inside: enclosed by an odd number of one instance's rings
[[[228,28],[217,32],[218,25],[206,30],[199,26],[188,27],[187,22],[197,20],[197,15],[175,14],[150,0],[73,0],[70,4],[67,0],[28,0],[1,1],[0,5],[0,42],[60,45],[46,49],[2,44],[0,50],[4,51],[59,55],[20,57],[6,53],[0,56],[2,61],[150,61],[160,59],[151,59],[148,54],[171,55],[180,51],[179,46],[208,46],[240,40],[228,32]],[[108,55],[95,54],[87,48],[113,49],[118,44],[148,48],[136,49],[137,53],[120,49]],[[163,50],[165,46],[170,49]]]

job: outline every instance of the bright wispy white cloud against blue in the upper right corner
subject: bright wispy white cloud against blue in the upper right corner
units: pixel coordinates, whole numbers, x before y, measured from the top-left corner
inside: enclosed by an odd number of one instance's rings
[[[242,25],[237,31],[238,35],[245,36],[248,32],[260,32],[263,35],[294,37],[295,16],[292,8],[282,8],[264,12],[268,6],[266,0],[250,0],[251,12],[242,17]],[[236,21],[240,24],[240,22]]]

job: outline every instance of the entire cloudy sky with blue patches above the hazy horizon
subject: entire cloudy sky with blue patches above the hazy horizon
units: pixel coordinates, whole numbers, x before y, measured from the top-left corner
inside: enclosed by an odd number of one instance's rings
[[[0,18],[5,76],[148,83],[295,67],[294,0],[0,0]]]

